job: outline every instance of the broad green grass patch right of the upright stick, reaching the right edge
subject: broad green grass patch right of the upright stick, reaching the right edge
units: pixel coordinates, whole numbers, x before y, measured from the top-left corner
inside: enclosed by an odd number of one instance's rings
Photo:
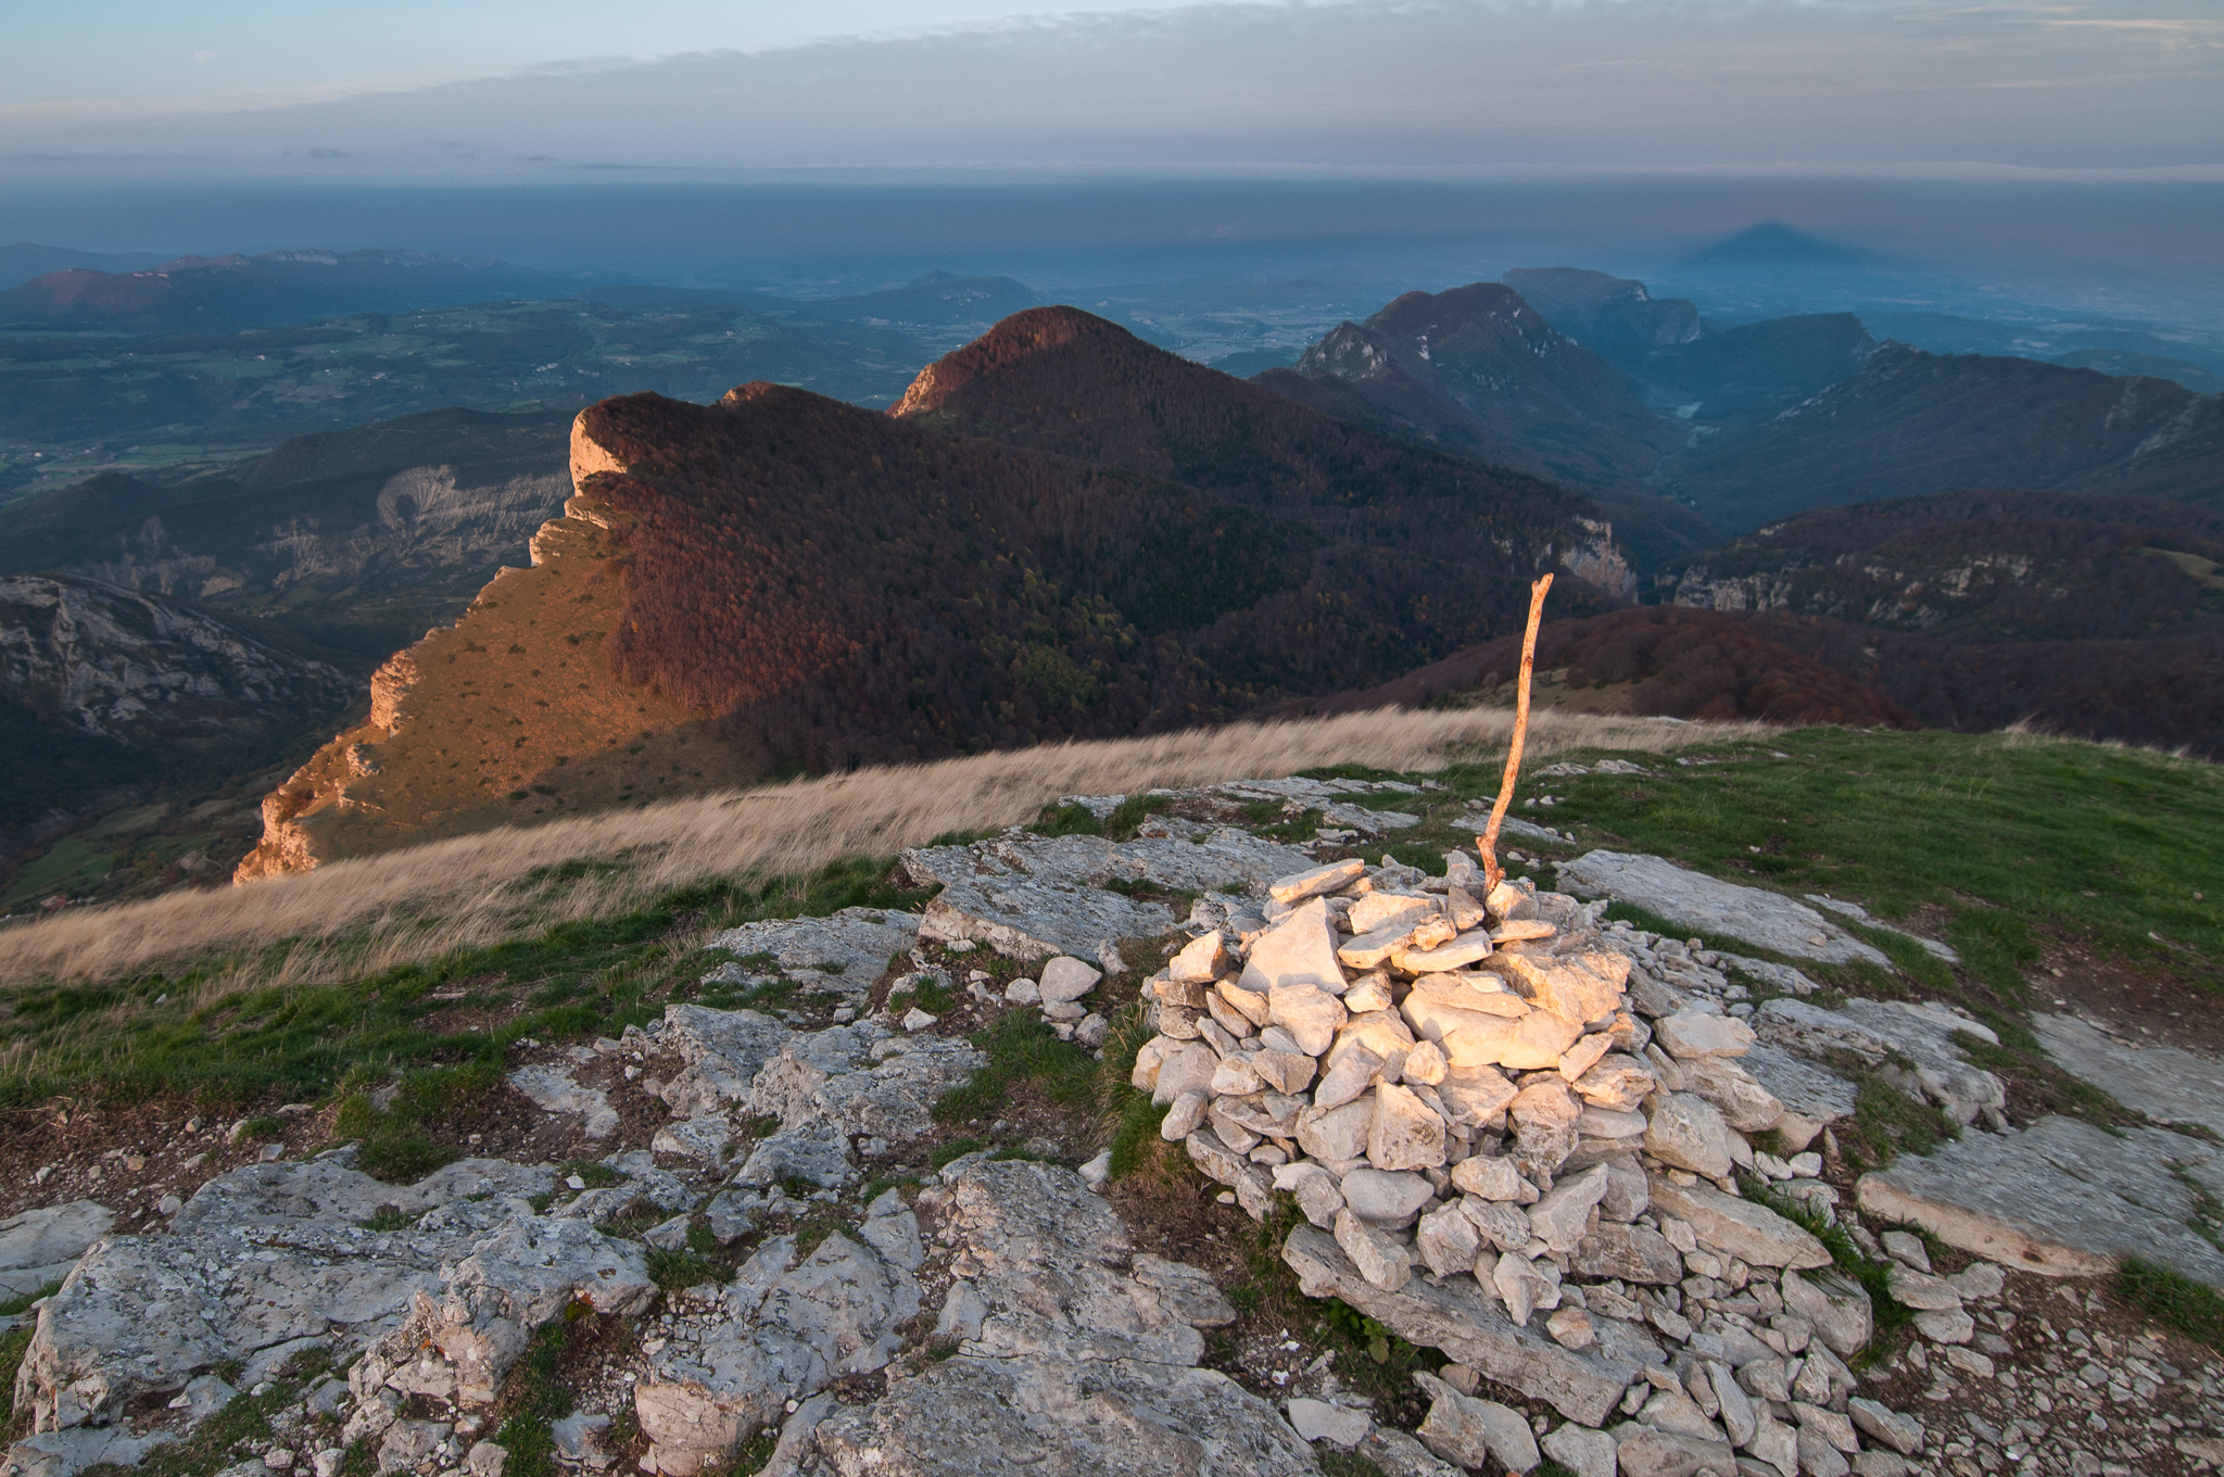
[[[2215,765],[2075,741],[1835,727],[1706,756],[1724,763],[1637,756],[1648,774],[1530,779],[1521,790],[1566,796],[1552,825],[1583,847],[1657,852],[1790,894],[1828,892],[1879,919],[1939,910],[1966,968],[2008,999],[2022,994],[2048,932],[2224,988],[2224,770]],[[1499,772],[1459,765],[1439,779],[1459,799],[1483,799]],[[1917,981],[1944,983],[1944,965],[1919,945],[1868,936]]]

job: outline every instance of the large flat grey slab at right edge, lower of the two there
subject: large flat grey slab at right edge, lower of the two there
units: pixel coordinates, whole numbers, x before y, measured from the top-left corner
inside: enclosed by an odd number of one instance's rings
[[[1935,1154],[1864,1174],[1864,1215],[1910,1221],[2006,1268],[2095,1277],[2137,1255],[2224,1288],[2224,1252],[2191,1230],[2193,1179],[2224,1192],[2224,1150],[2164,1128],[2106,1134],[2048,1117],[1964,1132]]]

